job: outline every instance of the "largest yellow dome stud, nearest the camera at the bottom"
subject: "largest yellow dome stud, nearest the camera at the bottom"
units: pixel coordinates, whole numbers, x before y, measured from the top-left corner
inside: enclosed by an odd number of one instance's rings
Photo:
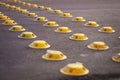
[[[60,72],[67,76],[85,76],[89,70],[80,62],[69,63],[60,69]]]

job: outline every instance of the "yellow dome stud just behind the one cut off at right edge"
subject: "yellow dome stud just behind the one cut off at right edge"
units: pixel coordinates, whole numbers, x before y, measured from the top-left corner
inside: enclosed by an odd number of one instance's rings
[[[95,41],[93,43],[91,43],[90,45],[87,46],[89,49],[92,50],[107,50],[109,49],[109,46],[102,41]]]

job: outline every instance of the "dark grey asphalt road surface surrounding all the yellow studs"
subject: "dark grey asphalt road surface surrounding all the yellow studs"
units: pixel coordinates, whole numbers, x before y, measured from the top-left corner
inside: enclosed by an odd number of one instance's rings
[[[113,62],[111,57],[120,52],[120,0],[22,0],[53,9],[61,9],[76,16],[85,17],[87,21],[96,21],[97,28],[84,26],[86,22],[72,22],[72,18],[61,18],[59,15],[39,9],[30,8],[6,0],[0,0],[11,5],[20,6],[45,16],[50,21],[56,21],[60,26],[69,27],[72,32],[59,34],[54,32],[57,28],[44,27],[44,22],[34,22],[34,18],[0,6],[0,11],[24,26],[26,31],[32,31],[38,37],[32,40],[19,39],[21,32],[10,32],[11,26],[4,26],[0,21],[0,80],[120,80],[120,63]],[[112,26],[115,33],[105,34],[98,32],[103,26]],[[73,41],[69,39],[74,33],[84,33],[88,36],[86,41]],[[64,61],[46,61],[41,58],[46,50],[35,50],[28,47],[34,40],[45,40],[51,47],[49,49],[62,51],[68,56]],[[94,51],[87,45],[94,41],[104,41],[110,49]],[[83,77],[65,76],[59,69],[68,63],[81,62],[90,73]]]

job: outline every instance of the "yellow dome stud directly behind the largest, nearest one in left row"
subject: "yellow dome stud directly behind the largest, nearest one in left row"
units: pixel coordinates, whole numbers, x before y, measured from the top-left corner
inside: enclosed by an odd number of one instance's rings
[[[61,51],[47,50],[47,53],[42,55],[42,58],[50,61],[61,61],[67,59],[67,56],[65,56]]]

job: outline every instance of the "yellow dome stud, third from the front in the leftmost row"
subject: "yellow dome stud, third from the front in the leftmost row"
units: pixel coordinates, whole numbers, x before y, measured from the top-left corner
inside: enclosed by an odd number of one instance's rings
[[[33,49],[47,49],[50,47],[50,45],[44,40],[36,40],[33,41],[29,47]]]

